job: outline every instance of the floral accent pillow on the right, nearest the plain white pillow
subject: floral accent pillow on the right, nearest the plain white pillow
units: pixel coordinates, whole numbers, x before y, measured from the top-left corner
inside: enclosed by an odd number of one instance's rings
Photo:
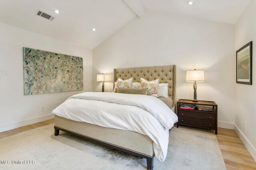
[[[158,98],[157,90],[159,86],[160,79],[152,80],[148,82],[144,78],[140,78],[140,87],[139,88],[148,88],[148,95],[155,96]]]

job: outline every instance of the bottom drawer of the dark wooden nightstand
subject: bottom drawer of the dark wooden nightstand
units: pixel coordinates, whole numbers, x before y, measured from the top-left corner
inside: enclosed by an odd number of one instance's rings
[[[179,123],[184,123],[188,125],[197,125],[203,127],[215,127],[215,121],[210,120],[203,120],[203,119],[194,119],[189,117],[180,117],[179,116]]]

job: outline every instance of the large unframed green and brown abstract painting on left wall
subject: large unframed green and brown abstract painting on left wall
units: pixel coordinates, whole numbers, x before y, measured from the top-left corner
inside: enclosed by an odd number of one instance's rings
[[[24,95],[83,90],[83,58],[23,47]]]

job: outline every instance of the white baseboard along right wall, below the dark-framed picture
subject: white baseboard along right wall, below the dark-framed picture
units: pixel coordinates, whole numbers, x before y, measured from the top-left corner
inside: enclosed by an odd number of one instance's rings
[[[252,158],[254,158],[254,160],[256,161],[256,149],[254,148],[252,143],[250,143],[250,141],[245,137],[245,135],[242,133],[242,131],[240,131],[240,129],[236,125],[234,125],[234,130],[235,130],[236,134],[238,135],[238,137],[241,139],[244,146],[247,148],[247,150],[252,155]]]

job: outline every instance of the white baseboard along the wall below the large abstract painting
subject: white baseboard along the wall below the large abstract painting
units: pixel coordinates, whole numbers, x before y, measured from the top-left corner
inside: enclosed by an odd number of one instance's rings
[[[27,120],[24,120],[24,121],[10,123],[10,124],[6,124],[6,125],[1,125],[0,126],[0,132],[8,131],[8,130],[15,129],[15,128],[22,127],[22,126],[26,126],[26,125],[31,125],[33,123],[38,123],[40,121],[46,121],[46,120],[53,119],[53,118],[54,118],[54,116],[52,114],[50,114],[50,115],[35,117],[35,118],[32,118],[32,119],[27,119]]]

